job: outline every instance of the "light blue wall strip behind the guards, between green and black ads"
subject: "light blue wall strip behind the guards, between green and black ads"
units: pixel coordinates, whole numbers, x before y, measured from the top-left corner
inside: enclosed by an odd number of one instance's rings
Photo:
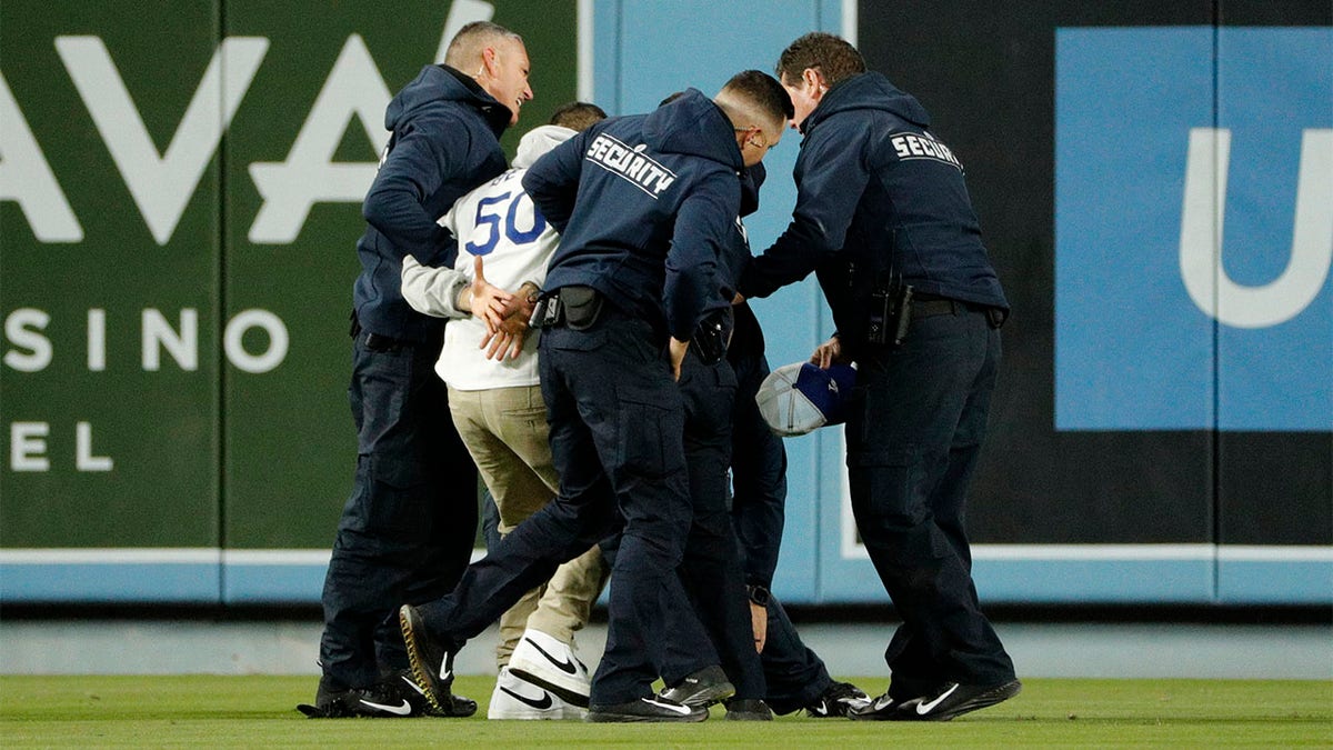
[[[595,101],[620,115],[651,111],[686,87],[712,96],[733,73],[748,68],[772,72],[778,53],[797,36],[841,28],[841,3],[828,0],[778,0],[761,8],[710,0],[613,0],[597,3],[595,9]],[[792,167],[798,148],[800,133],[789,131],[765,159],[768,181],[760,211],[745,220],[756,252],[790,220],[796,203]],[[809,358],[829,332],[821,322],[826,306],[813,279],[753,306],[773,367]],[[786,532],[773,587],[788,601],[816,597],[822,538],[817,500],[821,471],[829,466],[820,446],[828,436],[786,442]]]

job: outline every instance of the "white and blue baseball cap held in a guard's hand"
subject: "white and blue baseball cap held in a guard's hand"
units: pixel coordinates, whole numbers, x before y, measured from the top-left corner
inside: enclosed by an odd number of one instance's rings
[[[854,384],[856,370],[849,364],[820,370],[809,362],[796,362],[769,372],[754,394],[754,403],[774,435],[805,435],[846,422]]]

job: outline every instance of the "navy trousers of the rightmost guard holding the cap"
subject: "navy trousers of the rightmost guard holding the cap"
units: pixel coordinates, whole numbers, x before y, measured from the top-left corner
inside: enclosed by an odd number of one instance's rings
[[[998,362],[1000,332],[962,304],[858,358],[846,466],[857,530],[902,618],[885,651],[897,699],[1014,678],[981,614],[964,528]]]

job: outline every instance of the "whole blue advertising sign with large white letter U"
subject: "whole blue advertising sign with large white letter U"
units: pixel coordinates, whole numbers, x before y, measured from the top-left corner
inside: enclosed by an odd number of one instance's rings
[[[1057,29],[1057,430],[1333,430],[1330,260],[1333,29]]]

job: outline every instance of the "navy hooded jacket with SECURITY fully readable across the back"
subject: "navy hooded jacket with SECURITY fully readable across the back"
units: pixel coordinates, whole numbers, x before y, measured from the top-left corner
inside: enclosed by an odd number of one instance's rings
[[[689,340],[718,294],[718,254],[740,212],[730,120],[697,89],[612,117],[528,169],[523,187],[560,232],[545,290],[587,286]]]

